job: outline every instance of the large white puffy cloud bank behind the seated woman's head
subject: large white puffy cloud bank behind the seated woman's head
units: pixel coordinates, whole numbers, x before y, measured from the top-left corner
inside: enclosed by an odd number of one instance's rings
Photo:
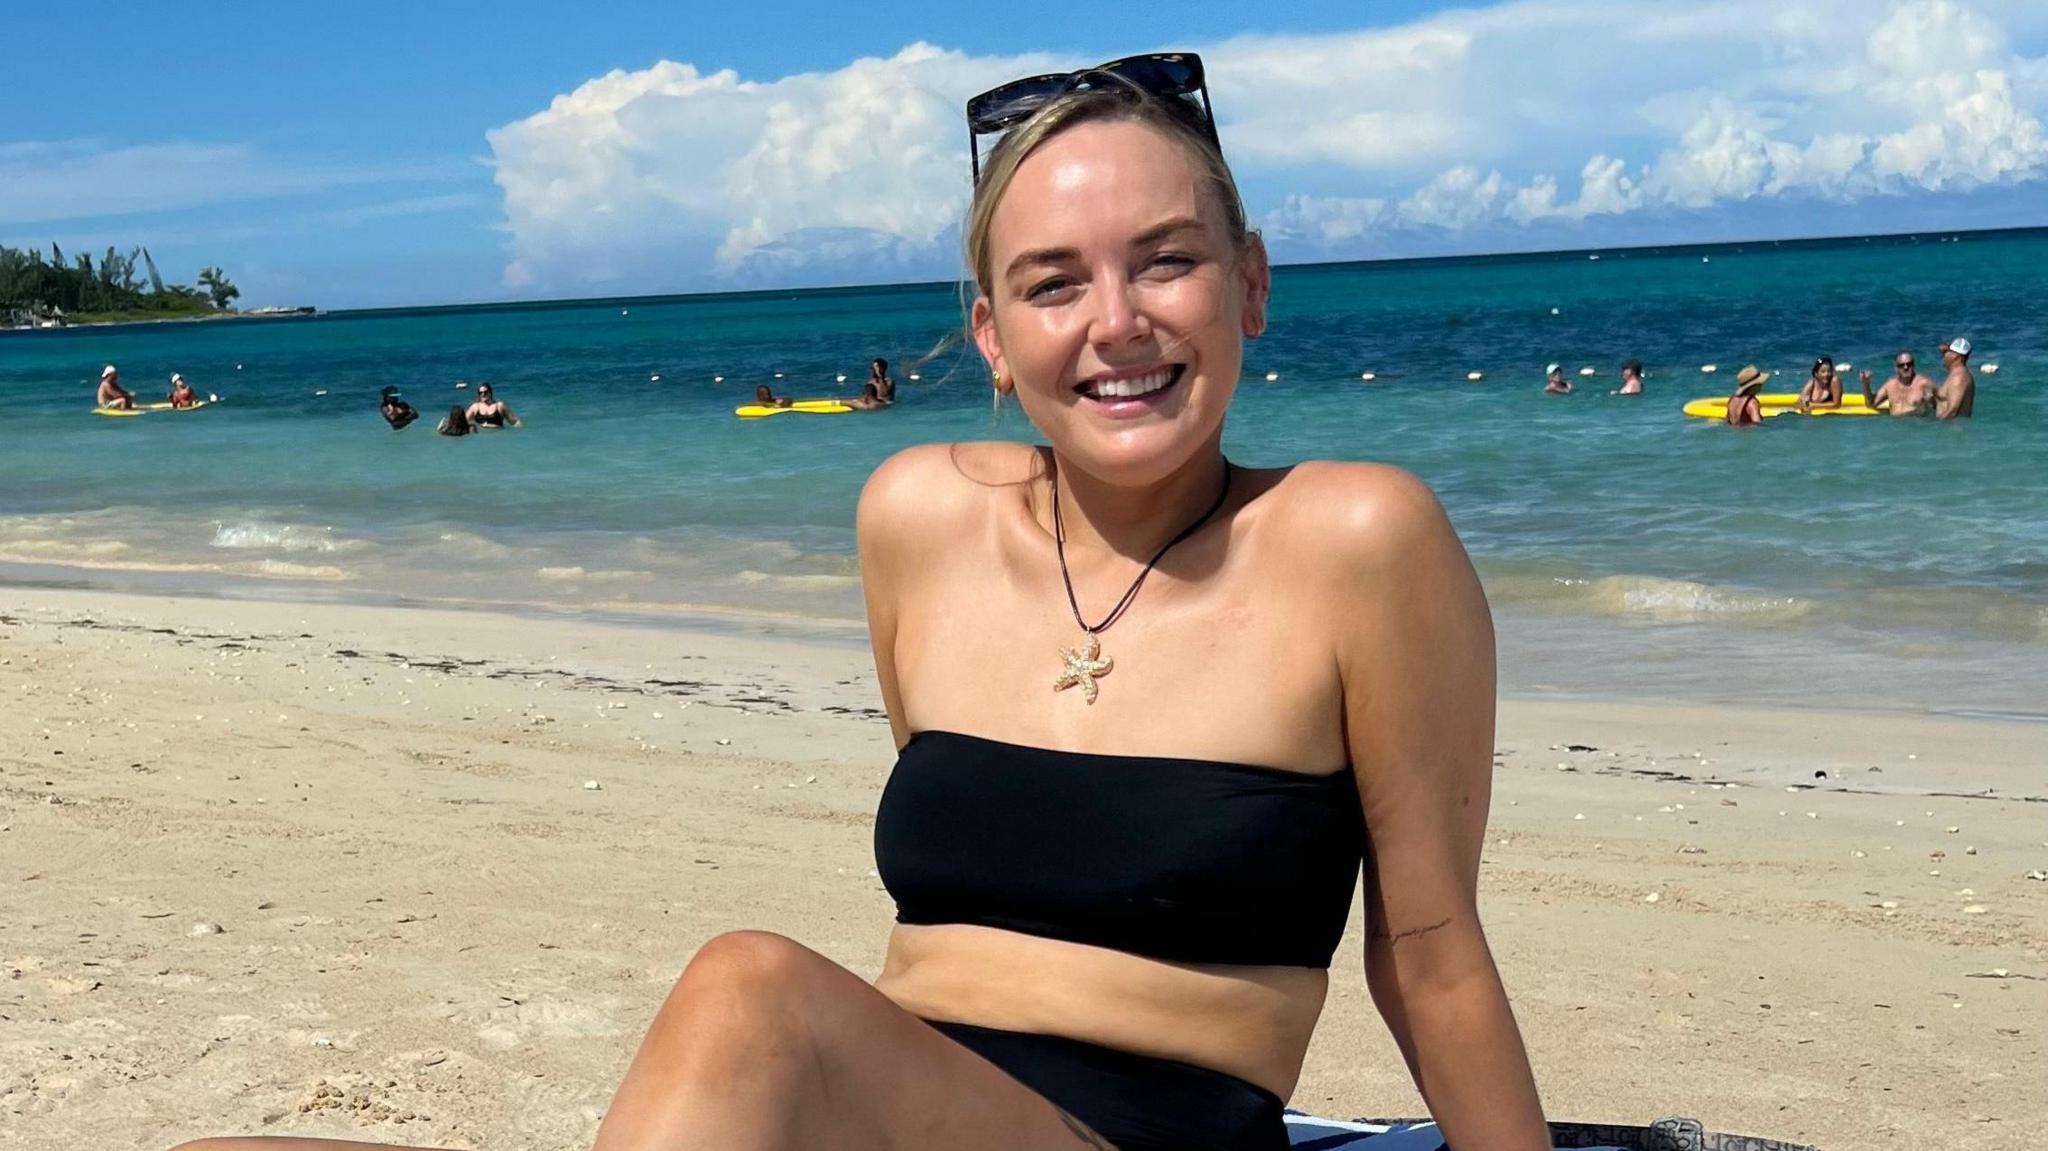
[[[1174,47],[1208,61],[1253,215],[1315,254],[2038,180],[2048,57],[2015,45],[2044,37],[2038,0],[1516,0]],[[489,133],[506,281],[950,274],[963,100],[1079,63],[918,43],[784,78],[594,78]]]

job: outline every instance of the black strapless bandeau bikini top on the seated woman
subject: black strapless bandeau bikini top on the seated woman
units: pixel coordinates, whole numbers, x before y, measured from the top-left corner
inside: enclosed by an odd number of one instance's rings
[[[1364,815],[1350,770],[1049,752],[920,731],[874,815],[901,924],[1174,963],[1327,969]]]

